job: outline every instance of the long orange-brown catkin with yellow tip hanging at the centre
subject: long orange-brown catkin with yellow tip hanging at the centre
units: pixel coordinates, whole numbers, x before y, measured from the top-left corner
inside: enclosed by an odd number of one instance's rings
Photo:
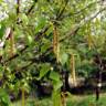
[[[56,61],[59,63],[60,56],[60,44],[59,44],[59,33],[57,28],[53,25],[53,52],[56,55]]]

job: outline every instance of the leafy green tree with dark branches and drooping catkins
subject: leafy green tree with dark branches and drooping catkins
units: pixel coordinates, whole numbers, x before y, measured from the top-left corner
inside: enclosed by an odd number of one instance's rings
[[[105,1],[0,0],[0,3],[7,15],[0,21],[2,88],[18,92],[22,85],[29,89],[31,81],[47,81],[57,95],[55,92],[63,85],[60,73],[63,67],[71,70],[72,54],[77,73],[85,77],[97,68],[93,56],[105,57]]]

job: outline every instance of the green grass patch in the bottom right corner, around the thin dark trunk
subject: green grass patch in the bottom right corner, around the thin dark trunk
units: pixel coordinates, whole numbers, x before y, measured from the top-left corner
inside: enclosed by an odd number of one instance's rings
[[[106,106],[106,94],[102,94],[98,102],[95,95],[81,95],[67,98],[66,106]]]

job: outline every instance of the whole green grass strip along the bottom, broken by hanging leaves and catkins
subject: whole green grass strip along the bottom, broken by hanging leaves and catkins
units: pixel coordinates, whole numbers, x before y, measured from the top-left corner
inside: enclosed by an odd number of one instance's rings
[[[66,106],[106,106],[106,94],[102,94],[98,102],[95,100],[95,95],[71,95],[66,99]],[[21,106],[21,102],[12,103],[10,106]],[[53,106],[51,98],[41,100],[31,98],[26,99],[25,106]]]

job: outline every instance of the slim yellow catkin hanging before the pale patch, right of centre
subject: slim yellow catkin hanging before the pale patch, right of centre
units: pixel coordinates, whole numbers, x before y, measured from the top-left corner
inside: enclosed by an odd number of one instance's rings
[[[75,75],[75,55],[71,55],[71,74],[73,78],[73,84],[76,86],[76,75]]]

